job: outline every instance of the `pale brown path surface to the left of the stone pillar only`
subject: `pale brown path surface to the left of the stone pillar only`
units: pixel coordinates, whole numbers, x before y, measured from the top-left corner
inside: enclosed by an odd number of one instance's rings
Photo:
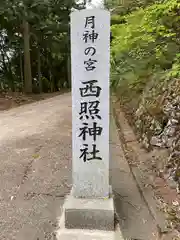
[[[70,184],[70,94],[0,113],[0,239],[55,239]]]

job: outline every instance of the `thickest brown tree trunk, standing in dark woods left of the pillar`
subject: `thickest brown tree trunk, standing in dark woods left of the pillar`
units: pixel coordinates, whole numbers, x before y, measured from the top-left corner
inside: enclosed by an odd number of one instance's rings
[[[24,91],[32,93],[32,74],[31,74],[31,58],[29,44],[29,23],[24,20]]]

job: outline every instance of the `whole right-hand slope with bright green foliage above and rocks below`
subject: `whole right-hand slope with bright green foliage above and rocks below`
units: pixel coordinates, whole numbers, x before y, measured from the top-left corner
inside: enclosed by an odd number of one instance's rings
[[[167,151],[167,159],[156,171],[177,193],[180,192],[179,26],[180,2],[164,0],[116,13],[111,28],[112,89],[145,149]]]

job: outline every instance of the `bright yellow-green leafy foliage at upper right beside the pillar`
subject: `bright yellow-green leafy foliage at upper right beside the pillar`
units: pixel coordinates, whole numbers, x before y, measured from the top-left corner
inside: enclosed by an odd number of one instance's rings
[[[138,8],[125,16],[125,24],[112,26],[112,86],[139,94],[156,72],[172,68],[169,74],[178,76],[179,10],[178,0],[165,0]]]

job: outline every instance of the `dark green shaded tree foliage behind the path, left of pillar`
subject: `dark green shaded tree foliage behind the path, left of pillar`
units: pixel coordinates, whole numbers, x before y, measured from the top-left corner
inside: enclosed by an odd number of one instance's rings
[[[0,79],[13,91],[22,90],[24,66],[23,21],[29,23],[33,82],[41,75],[58,89],[59,72],[66,74],[69,14],[74,0],[6,0],[0,2]],[[11,56],[9,57],[9,53]],[[38,60],[40,53],[40,63]],[[63,70],[62,70],[63,69]],[[65,73],[64,73],[65,72]],[[39,78],[40,79],[40,78]],[[38,83],[39,84],[39,83]],[[37,83],[36,83],[37,85]],[[1,87],[0,87],[1,88]],[[49,87],[48,87],[49,88]]]

